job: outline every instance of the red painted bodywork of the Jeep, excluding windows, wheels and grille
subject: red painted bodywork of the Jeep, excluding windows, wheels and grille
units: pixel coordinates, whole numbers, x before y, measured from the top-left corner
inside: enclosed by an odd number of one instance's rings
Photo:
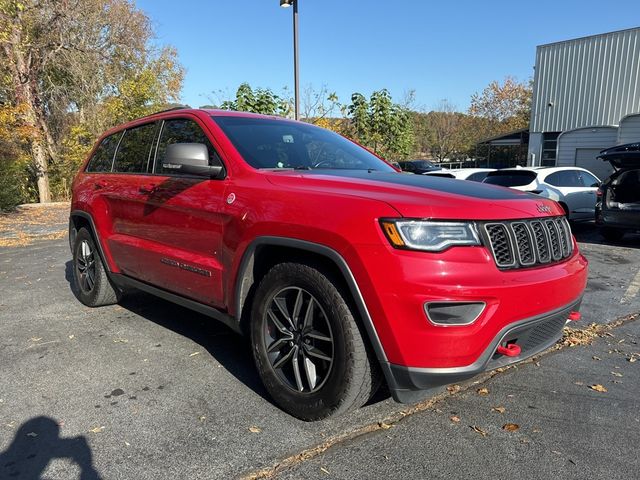
[[[380,218],[389,217],[545,216],[539,205],[550,210],[546,215],[561,215],[555,202],[524,193],[494,200],[375,180],[256,170],[211,115],[246,114],[168,112],[107,134],[149,120],[196,118],[225,164],[223,180],[92,174],[84,168],[76,177],[72,211],[91,215],[112,272],[235,315],[238,271],[252,241],[275,236],[323,245],[353,273],[388,361],[432,368],[472,364],[505,326],[564,307],[584,291],[587,261],[577,245],[560,263],[502,271],[483,246],[439,253],[395,249],[379,225]],[[150,185],[153,192],[140,191]],[[235,195],[232,203],[226,201],[229,194]],[[485,302],[486,308],[468,326],[433,325],[424,303],[444,300]]]

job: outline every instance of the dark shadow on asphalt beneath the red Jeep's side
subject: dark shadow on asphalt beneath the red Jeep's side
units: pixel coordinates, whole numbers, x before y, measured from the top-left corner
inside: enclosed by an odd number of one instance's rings
[[[73,264],[65,264],[65,279],[74,290]],[[151,294],[133,291],[119,305],[146,320],[189,338],[206,349],[229,373],[271,402],[253,364],[249,342],[222,323]]]

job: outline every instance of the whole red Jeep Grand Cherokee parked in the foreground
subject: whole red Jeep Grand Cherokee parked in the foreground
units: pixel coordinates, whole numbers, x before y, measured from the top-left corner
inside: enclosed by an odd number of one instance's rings
[[[81,302],[133,287],[249,334],[275,402],[307,420],[383,378],[410,402],[544,350],[587,279],[553,201],[214,110],[107,132],[74,181],[70,242]]]

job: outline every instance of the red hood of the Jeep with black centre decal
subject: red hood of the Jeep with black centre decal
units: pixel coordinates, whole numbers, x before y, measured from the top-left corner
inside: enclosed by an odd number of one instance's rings
[[[277,171],[268,180],[290,190],[385,202],[403,217],[498,220],[563,215],[554,201],[510,188],[428,175],[367,171]]]

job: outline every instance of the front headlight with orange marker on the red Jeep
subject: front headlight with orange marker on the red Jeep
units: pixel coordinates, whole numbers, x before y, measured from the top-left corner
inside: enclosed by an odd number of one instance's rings
[[[480,245],[471,222],[384,219],[380,225],[396,248],[441,252],[454,245]]]

